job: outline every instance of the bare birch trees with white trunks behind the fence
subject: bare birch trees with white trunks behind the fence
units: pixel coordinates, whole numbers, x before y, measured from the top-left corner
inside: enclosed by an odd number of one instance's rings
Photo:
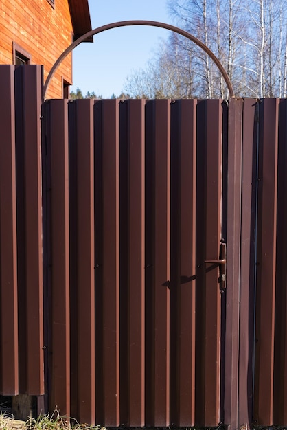
[[[168,5],[173,23],[203,41],[216,54],[236,95],[286,97],[286,1],[168,0]],[[228,96],[217,67],[190,41],[171,36],[161,45],[160,52],[152,60],[152,67],[143,73],[146,78],[147,73],[153,73],[157,82],[146,93],[161,97]],[[136,80],[134,74],[134,87]],[[160,91],[155,91],[156,87]]]

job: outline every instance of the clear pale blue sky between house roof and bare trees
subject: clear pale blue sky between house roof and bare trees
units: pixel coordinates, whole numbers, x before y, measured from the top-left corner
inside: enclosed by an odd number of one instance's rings
[[[89,0],[93,29],[114,23],[144,19],[172,23],[166,0]],[[168,30],[156,27],[121,27],[97,34],[93,43],[82,43],[73,50],[73,86],[85,94],[110,98],[124,89],[124,80],[133,69],[145,67],[160,38]]]

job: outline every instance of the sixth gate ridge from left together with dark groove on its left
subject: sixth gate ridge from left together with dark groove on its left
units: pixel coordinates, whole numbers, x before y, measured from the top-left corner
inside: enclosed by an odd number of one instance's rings
[[[196,100],[171,104],[170,420],[195,414]]]

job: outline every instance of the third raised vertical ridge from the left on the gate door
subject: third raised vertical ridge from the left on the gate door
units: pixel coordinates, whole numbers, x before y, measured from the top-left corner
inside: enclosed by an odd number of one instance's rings
[[[119,101],[102,104],[104,425],[119,425]]]

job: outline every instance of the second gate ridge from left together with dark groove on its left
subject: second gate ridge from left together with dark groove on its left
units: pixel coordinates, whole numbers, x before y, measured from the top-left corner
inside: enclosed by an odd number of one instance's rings
[[[93,101],[69,103],[71,355],[76,415],[95,423]],[[71,178],[73,176],[73,178]],[[71,183],[71,179],[73,182]],[[72,224],[72,217],[75,223]],[[72,258],[75,258],[72,260]],[[73,276],[73,280],[72,280]],[[74,288],[74,291],[72,291]],[[72,308],[72,302],[73,308]],[[76,320],[76,321],[75,321]],[[76,324],[75,324],[76,322]],[[84,354],[82,353],[84,351]],[[77,399],[77,400],[76,400]],[[71,411],[73,415],[73,411]]]

